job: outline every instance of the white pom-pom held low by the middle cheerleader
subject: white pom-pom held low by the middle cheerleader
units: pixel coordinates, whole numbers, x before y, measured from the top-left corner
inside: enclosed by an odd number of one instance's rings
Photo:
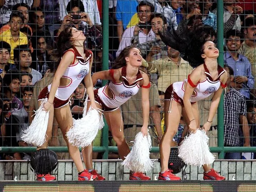
[[[154,167],[153,160],[149,158],[151,150],[151,138],[137,133],[132,150],[124,159],[122,165],[134,172],[148,172]]]

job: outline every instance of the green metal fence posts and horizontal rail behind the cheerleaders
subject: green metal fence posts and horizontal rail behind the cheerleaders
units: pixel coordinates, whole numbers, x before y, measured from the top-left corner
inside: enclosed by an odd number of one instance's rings
[[[109,69],[108,53],[109,53],[109,8],[108,1],[102,1],[102,14],[103,14],[103,64],[102,70]],[[223,0],[217,1],[217,46],[220,50],[220,56],[218,57],[218,64],[223,66],[223,53],[224,53],[224,34],[223,34]],[[105,85],[107,81],[103,81]],[[211,147],[211,152],[219,153],[218,158],[223,159],[225,152],[256,152],[256,147],[224,147],[224,111],[223,111],[223,94],[221,96],[220,104],[218,106],[218,146]],[[102,131],[102,146],[93,147],[94,152],[103,152],[103,159],[108,159],[109,152],[117,152],[117,147],[109,146],[108,144],[108,126],[105,122],[105,127]],[[35,152],[36,147],[1,147],[0,152]],[[50,150],[55,152],[68,152],[66,146],[49,147]],[[81,148],[80,148],[81,150]],[[159,147],[152,147],[151,152],[159,152]]]

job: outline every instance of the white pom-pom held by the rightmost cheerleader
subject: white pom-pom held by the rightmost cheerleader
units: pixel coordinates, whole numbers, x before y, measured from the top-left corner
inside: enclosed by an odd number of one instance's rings
[[[201,166],[212,164],[215,158],[209,150],[208,140],[206,132],[197,129],[196,133],[186,136],[183,140],[178,149],[178,157],[189,165]]]

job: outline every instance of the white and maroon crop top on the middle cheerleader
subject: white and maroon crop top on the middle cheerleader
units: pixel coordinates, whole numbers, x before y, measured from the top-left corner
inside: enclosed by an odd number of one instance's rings
[[[129,85],[126,78],[126,67],[122,68],[122,79],[120,83],[116,83],[114,80],[114,70],[109,70],[112,80],[104,87],[99,88],[98,95],[101,101],[109,108],[117,108],[126,101],[129,100],[133,95],[136,95],[140,89],[140,81],[143,80],[140,70],[137,73],[136,80]],[[148,85],[150,87],[150,84]],[[105,93],[106,87],[112,92],[112,98],[108,97]],[[148,87],[145,87],[148,88]]]

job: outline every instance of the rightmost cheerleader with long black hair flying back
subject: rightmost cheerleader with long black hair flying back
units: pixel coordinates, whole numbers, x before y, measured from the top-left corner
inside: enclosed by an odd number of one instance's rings
[[[227,72],[217,63],[219,51],[215,43],[210,40],[211,34],[204,33],[202,35],[201,31],[202,28],[195,29],[191,39],[188,39],[186,34],[182,34],[175,40],[173,34],[161,33],[161,39],[168,46],[175,46],[173,42],[179,42],[179,46],[186,46],[185,56],[194,70],[188,75],[187,80],[171,84],[164,94],[166,131],[160,143],[161,172],[159,180],[180,180],[172,173],[172,170],[168,170],[168,160],[170,143],[177,132],[181,114],[190,132],[196,132],[200,128],[197,101],[214,94],[207,122],[203,125],[203,129],[209,131],[222,90],[226,87]],[[209,165],[203,165],[203,169],[204,180],[225,180],[225,177],[220,176]]]

